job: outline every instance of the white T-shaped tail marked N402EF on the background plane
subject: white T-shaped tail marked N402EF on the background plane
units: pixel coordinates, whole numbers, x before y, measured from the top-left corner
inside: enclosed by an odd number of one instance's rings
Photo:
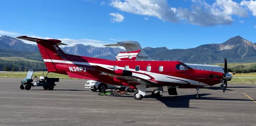
[[[110,45],[104,45],[104,46],[107,46],[107,47],[124,47],[125,50],[128,51],[128,52],[140,50],[140,53],[136,57],[136,60],[152,60],[152,58],[150,58],[148,56],[148,54],[146,52],[144,52],[144,50],[140,46],[140,43],[138,43],[136,41],[122,41],[122,42],[117,42],[116,44],[110,44]]]

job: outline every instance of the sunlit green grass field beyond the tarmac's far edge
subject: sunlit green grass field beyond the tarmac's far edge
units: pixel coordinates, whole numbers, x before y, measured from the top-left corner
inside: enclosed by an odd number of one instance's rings
[[[46,76],[47,72],[44,73]],[[27,72],[0,72],[0,78],[25,78]],[[42,72],[34,72],[34,76],[40,77]],[[233,78],[228,83],[255,83],[256,84],[256,73],[248,73],[244,75],[232,75]],[[74,79],[69,78],[67,75],[49,73],[49,78],[60,78],[60,79]]]

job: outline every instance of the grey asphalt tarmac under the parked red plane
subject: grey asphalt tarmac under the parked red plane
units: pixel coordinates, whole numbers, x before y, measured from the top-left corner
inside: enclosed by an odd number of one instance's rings
[[[53,91],[19,89],[22,78],[0,78],[0,125],[26,126],[256,126],[256,84],[228,84],[200,89],[177,89],[142,100],[131,95],[100,96],[84,89],[86,80],[60,79]]]

